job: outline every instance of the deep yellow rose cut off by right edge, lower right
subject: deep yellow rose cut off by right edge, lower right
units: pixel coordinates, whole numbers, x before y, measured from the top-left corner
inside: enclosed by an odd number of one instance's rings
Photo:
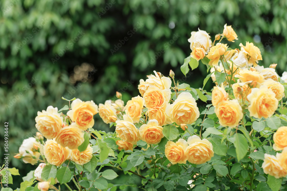
[[[277,129],[273,135],[273,149],[276,151],[281,151],[287,147],[287,127],[282,126]]]

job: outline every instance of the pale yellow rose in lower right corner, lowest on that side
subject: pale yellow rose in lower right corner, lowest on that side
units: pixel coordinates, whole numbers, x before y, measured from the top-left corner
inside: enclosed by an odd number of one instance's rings
[[[262,168],[265,174],[269,174],[275,178],[282,178],[287,175],[286,170],[282,168],[276,156],[265,153],[263,161]]]

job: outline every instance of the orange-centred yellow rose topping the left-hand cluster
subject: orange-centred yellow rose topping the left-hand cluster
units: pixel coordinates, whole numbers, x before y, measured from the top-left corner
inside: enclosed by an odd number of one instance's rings
[[[93,101],[75,99],[71,104],[71,110],[67,115],[83,131],[94,126],[94,115],[98,113],[98,106]]]

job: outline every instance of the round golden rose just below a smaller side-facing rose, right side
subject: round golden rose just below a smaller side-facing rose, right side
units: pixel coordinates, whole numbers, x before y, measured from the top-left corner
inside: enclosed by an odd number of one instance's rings
[[[223,127],[236,127],[243,118],[242,108],[237,99],[220,102],[214,112]]]

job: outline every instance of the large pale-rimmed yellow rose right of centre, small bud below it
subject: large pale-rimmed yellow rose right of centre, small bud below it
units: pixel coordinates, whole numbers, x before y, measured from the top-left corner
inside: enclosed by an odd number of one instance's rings
[[[189,92],[183,92],[166,108],[166,115],[178,125],[191,124],[198,119],[199,110],[192,95]]]

